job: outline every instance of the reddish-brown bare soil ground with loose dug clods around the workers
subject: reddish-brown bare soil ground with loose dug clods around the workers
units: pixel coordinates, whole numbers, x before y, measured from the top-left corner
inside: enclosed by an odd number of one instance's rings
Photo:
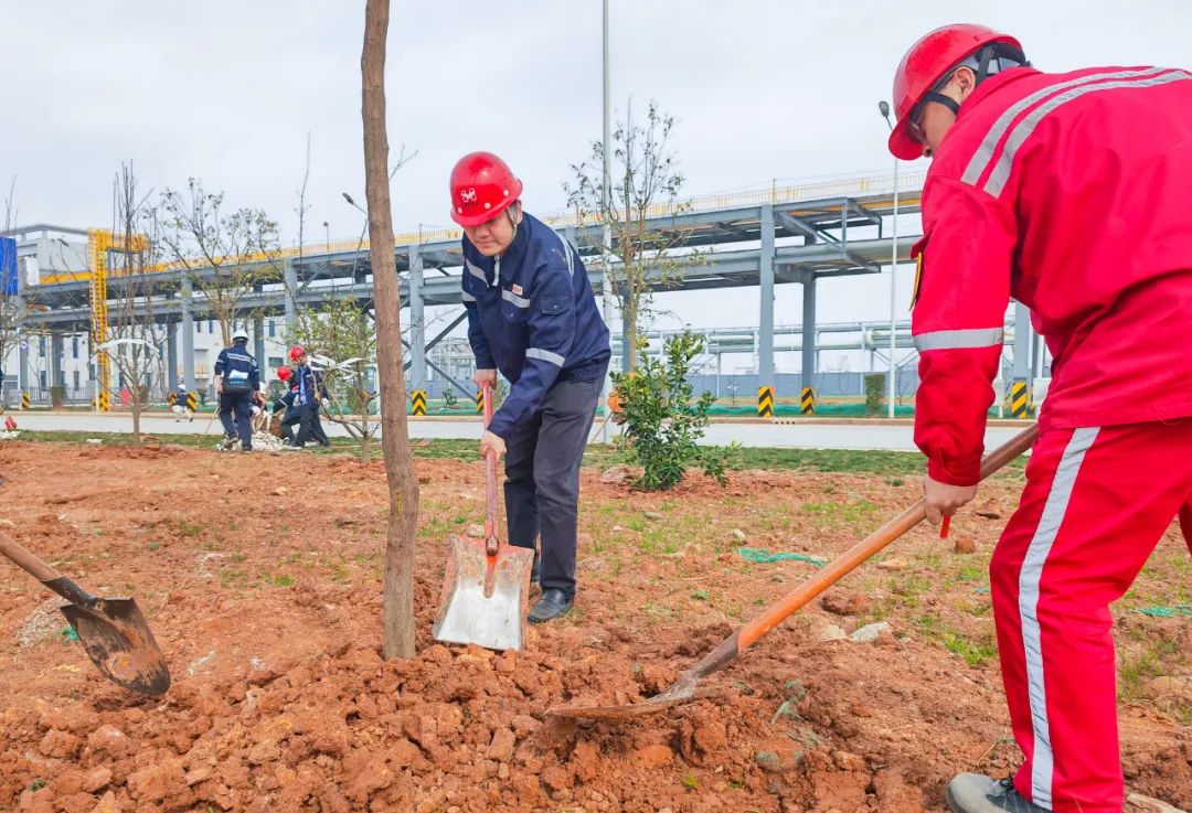
[[[927,533],[900,550],[904,570],[850,577],[844,603],[827,602],[836,614],[806,609],[710,678],[713,699],[623,725],[546,714],[652,696],[811,572],[745,563],[731,529],[833,554],[913,486],[746,472],[727,491],[693,478],[660,496],[585,471],[577,610],[532,628],[527,651],[495,654],[429,638],[441,544],[480,516],[483,480],[472,463],[420,460],[418,656],[384,662],[379,463],[10,451],[12,532],[80,583],[135,595],[174,685],[141,699],[76,644],[19,646],[45,594],[0,571],[0,809],[918,813],[940,807],[957,771],[1004,774],[1018,759],[995,659],[975,648],[991,627],[987,595],[966,581],[973,557],[942,553]],[[48,489],[45,472],[62,468],[86,485]],[[989,498],[1008,504],[1012,491]],[[987,551],[995,526],[966,533]],[[1163,573],[1148,589],[1177,589],[1178,569]],[[873,643],[817,638],[879,612],[890,632]],[[1142,660],[1149,650],[1130,647],[1149,646],[1156,626],[1175,651],[1192,647],[1186,622],[1150,625],[1124,620],[1123,657]],[[1147,699],[1123,714],[1131,789],[1181,807],[1192,732],[1173,696],[1186,677],[1147,684],[1167,712]]]

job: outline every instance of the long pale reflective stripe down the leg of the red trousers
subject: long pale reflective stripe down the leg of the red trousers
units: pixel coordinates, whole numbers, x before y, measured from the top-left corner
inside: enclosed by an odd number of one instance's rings
[[[1023,648],[1026,652],[1026,690],[1031,703],[1031,728],[1035,749],[1031,762],[1031,801],[1039,807],[1051,807],[1051,780],[1055,756],[1051,751],[1051,726],[1047,716],[1047,688],[1043,681],[1043,640],[1039,631],[1039,578],[1043,565],[1055,544],[1056,534],[1068,513],[1068,502],[1076,485],[1076,476],[1085,461],[1085,453],[1097,440],[1097,427],[1072,433],[1063,457],[1055,470],[1051,491],[1043,505],[1043,515],[1026,548],[1023,569],[1018,573],[1018,613],[1023,627]]]

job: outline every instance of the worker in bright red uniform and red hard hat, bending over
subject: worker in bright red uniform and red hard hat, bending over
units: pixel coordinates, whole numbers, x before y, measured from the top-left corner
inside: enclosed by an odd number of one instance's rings
[[[976,25],[894,79],[899,159],[931,156],[913,248],[927,516],[977,491],[1010,297],[1055,359],[1018,510],[989,566],[1025,762],[964,774],[963,813],[1120,813],[1109,606],[1181,516],[1192,548],[1192,74],[1047,74]]]

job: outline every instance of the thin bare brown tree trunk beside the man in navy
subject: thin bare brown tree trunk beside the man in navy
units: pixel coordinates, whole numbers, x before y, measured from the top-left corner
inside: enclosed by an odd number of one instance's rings
[[[385,131],[385,39],[389,0],[367,0],[360,57],[365,128],[365,191],[368,198],[370,259],[377,302],[377,372],[380,378],[381,451],[389,478],[385,545],[384,656],[414,657],[414,534],[418,522],[418,480],[405,422],[402,319],[393,259],[393,216],[389,201],[389,136]]]

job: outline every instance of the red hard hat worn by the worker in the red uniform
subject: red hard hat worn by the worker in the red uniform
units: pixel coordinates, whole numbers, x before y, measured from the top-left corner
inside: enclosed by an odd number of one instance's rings
[[[1008,35],[963,23],[936,29],[911,45],[894,74],[894,116],[898,123],[889,139],[894,157],[905,161],[923,157],[923,144],[907,129],[911,111],[957,62],[992,43],[1006,43],[1019,51],[1023,48]]]

